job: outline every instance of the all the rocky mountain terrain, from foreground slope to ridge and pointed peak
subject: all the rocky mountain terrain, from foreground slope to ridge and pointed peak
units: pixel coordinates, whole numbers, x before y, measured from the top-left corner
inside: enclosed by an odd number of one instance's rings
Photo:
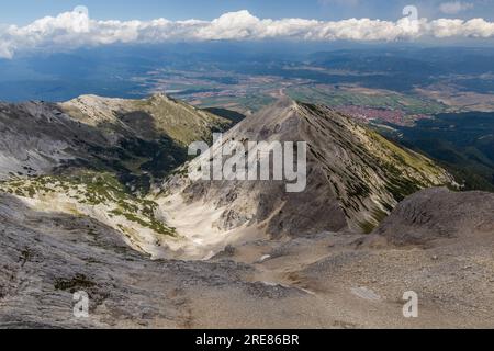
[[[492,324],[492,193],[456,192],[431,159],[324,105],[212,112],[165,94],[0,104],[0,326]],[[218,132],[306,141],[305,191],[191,180],[205,156],[188,145]],[[413,288],[419,321],[396,308]]]

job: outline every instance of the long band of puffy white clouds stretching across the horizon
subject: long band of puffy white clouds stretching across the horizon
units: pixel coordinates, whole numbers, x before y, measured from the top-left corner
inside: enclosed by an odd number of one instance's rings
[[[83,8],[57,16],[46,16],[25,26],[0,27],[0,57],[31,49],[70,49],[114,43],[158,44],[201,41],[409,41],[422,37],[494,36],[494,23],[439,19],[397,21],[348,19],[316,21],[304,19],[259,19],[248,11],[225,13],[213,21],[97,21]]]

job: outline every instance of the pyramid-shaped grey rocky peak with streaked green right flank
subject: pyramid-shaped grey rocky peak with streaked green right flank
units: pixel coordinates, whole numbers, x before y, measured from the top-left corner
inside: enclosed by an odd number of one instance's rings
[[[283,181],[191,181],[206,157],[228,141],[306,141],[307,185],[288,193]],[[371,231],[406,195],[423,188],[452,184],[431,160],[401,148],[328,107],[284,99],[249,116],[227,134],[222,145],[184,166],[162,186],[181,194],[187,205],[221,211],[210,225],[221,230],[260,225],[269,235],[297,236],[350,228]],[[167,199],[158,200],[166,204]],[[166,206],[166,205],[165,205]],[[171,211],[171,208],[169,208]],[[206,210],[205,210],[206,211]]]

